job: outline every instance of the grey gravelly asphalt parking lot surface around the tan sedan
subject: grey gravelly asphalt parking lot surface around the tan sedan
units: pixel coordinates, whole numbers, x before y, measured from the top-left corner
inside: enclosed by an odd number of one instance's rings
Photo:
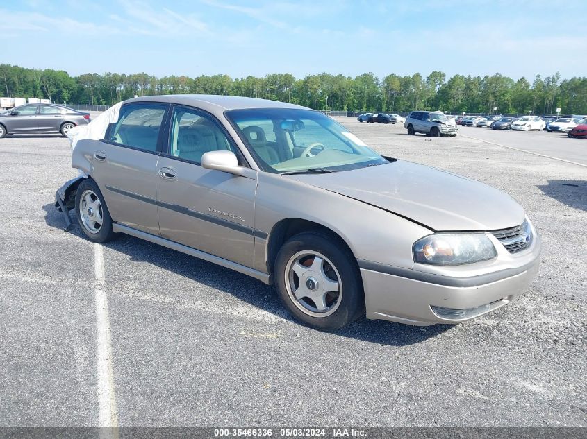
[[[97,283],[94,244],[77,225],[63,232],[52,205],[76,175],[67,139],[7,137],[0,425],[99,424],[99,288],[110,318],[110,416],[121,426],[587,426],[587,167],[338,120],[379,153],[518,200],[543,239],[531,289],[463,325],[361,320],[326,334],[289,318],[272,287],[130,236],[104,246]],[[587,142],[561,140],[584,157]],[[545,148],[556,156],[554,142]]]

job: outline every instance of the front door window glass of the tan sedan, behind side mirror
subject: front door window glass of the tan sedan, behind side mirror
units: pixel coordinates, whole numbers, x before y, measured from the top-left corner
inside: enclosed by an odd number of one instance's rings
[[[193,110],[176,108],[172,118],[171,155],[199,164],[209,151],[236,153],[217,124]]]

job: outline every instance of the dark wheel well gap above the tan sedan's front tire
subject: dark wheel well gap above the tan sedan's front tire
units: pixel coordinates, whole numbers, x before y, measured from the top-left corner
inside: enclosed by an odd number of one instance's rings
[[[277,253],[281,246],[283,246],[283,243],[301,232],[319,232],[329,236],[332,239],[340,241],[340,243],[349,250],[349,254],[353,254],[346,241],[328,227],[301,218],[287,218],[276,223],[269,235],[269,243],[267,243],[267,269],[269,270],[269,273],[272,273],[273,271]]]

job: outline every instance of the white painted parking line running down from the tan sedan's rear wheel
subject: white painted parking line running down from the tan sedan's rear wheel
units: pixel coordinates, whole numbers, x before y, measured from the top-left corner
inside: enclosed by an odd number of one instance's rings
[[[98,402],[99,427],[118,427],[114,375],[112,367],[112,345],[110,344],[110,318],[108,317],[108,296],[104,291],[104,250],[94,243],[94,284],[97,323],[97,366],[98,366]],[[105,437],[117,437],[116,429],[103,431]],[[103,435],[101,435],[103,436]]]

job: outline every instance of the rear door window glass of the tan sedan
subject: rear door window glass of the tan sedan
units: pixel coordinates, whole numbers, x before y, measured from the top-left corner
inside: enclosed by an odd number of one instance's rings
[[[109,141],[156,152],[165,105],[139,104],[120,109],[118,122],[110,130]]]

